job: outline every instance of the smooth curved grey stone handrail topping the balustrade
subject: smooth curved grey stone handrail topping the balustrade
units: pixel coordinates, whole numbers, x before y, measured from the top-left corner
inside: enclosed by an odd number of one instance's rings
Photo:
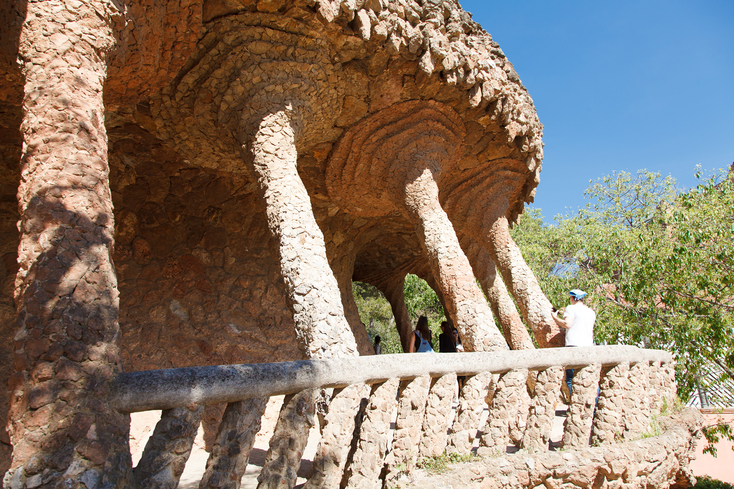
[[[305,389],[377,383],[390,378],[504,373],[511,369],[542,370],[553,366],[611,366],[641,361],[670,362],[672,356],[664,350],[612,345],[417,356],[394,354],[144,370],[117,375],[112,384],[112,402],[120,411],[137,412],[176,408],[193,402],[236,402],[295,394]]]

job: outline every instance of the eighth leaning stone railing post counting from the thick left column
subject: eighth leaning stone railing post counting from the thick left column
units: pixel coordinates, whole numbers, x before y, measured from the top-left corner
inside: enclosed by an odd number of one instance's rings
[[[471,451],[480,417],[487,406],[487,394],[494,391],[495,382],[492,372],[482,372],[467,378],[457,407],[454,424],[448,435],[446,452],[467,455]]]

